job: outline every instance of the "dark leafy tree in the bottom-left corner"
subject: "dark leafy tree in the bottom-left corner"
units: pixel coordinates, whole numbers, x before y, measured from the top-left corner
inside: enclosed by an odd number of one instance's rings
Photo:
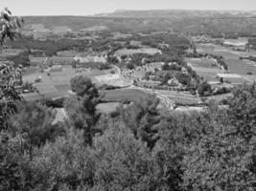
[[[26,191],[34,187],[34,170],[20,153],[19,138],[0,133],[0,190]]]

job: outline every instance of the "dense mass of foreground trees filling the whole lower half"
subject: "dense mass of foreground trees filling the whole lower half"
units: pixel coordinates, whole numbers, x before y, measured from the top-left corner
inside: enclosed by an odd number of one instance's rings
[[[237,88],[229,108],[166,113],[145,97],[101,116],[84,76],[64,100],[65,123],[43,103],[19,102],[0,133],[1,190],[256,189],[256,87]]]

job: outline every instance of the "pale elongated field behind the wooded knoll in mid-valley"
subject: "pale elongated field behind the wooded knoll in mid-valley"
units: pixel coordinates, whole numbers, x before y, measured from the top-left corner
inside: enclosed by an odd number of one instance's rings
[[[152,48],[142,48],[142,49],[121,49],[118,50],[115,55],[116,56],[122,56],[122,55],[132,55],[135,53],[147,53],[147,54],[155,54],[155,53],[162,53],[158,49],[152,49]]]

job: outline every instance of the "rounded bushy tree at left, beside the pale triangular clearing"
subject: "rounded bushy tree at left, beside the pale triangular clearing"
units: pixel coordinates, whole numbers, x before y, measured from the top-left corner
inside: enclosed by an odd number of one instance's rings
[[[21,138],[21,149],[28,151],[33,159],[33,147],[53,139],[58,129],[52,125],[54,114],[45,106],[35,102],[20,102],[17,112],[9,119],[10,131]]]

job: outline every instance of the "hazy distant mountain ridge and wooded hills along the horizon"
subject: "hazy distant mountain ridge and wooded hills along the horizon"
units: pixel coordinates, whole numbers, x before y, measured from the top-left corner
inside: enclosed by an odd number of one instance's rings
[[[94,16],[25,16],[25,30],[78,32],[256,32],[256,11],[114,11]]]

